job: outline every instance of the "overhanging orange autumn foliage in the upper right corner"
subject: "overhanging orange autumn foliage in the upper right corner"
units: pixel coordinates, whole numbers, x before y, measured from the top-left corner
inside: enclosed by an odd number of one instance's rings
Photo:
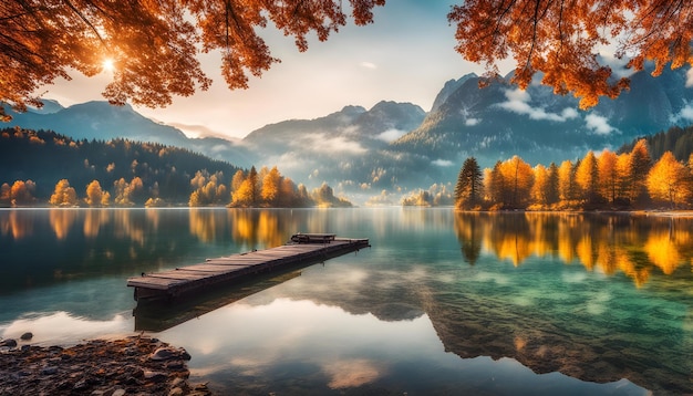
[[[457,25],[456,50],[485,64],[486,76],[498,75],[497,62],[511,56],[513,81],[521,88],[540,72],[542,84],[580,97],[581,108],[629,87],[627,77],[600,63],[604,44],[613,44],[616,58],[627,58],[632,70],[654,61],[652,75],[669,63],[693,65],[693,3],[686,1],[466,0],[447,18]]]

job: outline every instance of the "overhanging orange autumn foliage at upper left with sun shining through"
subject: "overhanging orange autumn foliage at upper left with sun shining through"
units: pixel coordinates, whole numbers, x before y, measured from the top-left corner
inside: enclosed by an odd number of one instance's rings
[[[385,0],[350,0],[355,24],[372,22]],[[292,35],[299,51],[307,37],[320,41],[346,24],[338,0],[192,1],[4,1],[0,7],[0,103],[17,111],[40,106],[35,92],[76,71],[100,73],[113,65],[103,95],[115,104],[165,106],[173,95],[189,96],[211,81],[198,56],[220,52],[229,88],[248,87],[279,60],[259,33],[271,22]],[[0,118],[9,116],[0,106]]]

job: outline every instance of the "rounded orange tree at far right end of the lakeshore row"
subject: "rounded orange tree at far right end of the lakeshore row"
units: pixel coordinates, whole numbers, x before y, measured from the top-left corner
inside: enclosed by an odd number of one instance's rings
[[[669,202],[672,209],[691,197],[689,169],[671,152],[662,155],[650,169],[647,179],[650,197]]]

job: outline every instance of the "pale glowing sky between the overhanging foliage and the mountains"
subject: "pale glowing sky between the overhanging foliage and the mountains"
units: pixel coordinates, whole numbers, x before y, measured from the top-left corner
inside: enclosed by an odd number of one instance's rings
[[[136,110],[189,136],[228,137],[244,137],[283,119],[320,117],[344,105],[370,108],[382,100],[411,102],[428,111],[446,81],[483,72],[454,50],[455,29],[446,15],[456,2],[390,0],[375,10],[375,23],[355,27],[350,20],[327,42],[311,40],[303,53],[292,38],[265,29],[259,34],[282,62],[260,79],[251,77],[249,90],[229,91],[219,75],[218,54],[209,54],[203,58],[204,70],[214,80],[209,91],[176,97],[166,108]],[[73,76],[48,86],[44,97],[63,105],[103,100],[105,74]]]

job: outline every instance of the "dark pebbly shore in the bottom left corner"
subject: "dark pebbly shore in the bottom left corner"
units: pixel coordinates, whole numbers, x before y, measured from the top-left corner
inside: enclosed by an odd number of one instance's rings
[[[94,340],[71,347],[0,342],[0,396],[210,395],[188,383],[190,355],[157,338]]]

